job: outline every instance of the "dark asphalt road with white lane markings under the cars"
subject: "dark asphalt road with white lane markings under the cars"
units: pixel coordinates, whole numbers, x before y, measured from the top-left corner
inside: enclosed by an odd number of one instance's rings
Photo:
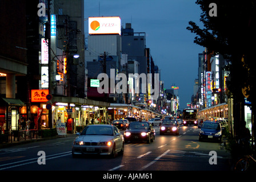
[[[154,129],[154,142],[126,143],[124,154],[114,159],[72,158],[75,135],[1,148],[0,171],[230,171],[229,153],[221,143],[198,142],[197,126],[181,126],[178,136]]]

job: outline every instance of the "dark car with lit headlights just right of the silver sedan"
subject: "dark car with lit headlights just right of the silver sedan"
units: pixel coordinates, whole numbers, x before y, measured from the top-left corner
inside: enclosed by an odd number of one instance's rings
[[[154,142],[155,130],[149,122],[131,122],[125,130],[125,142],[128,141],[147,141]]]

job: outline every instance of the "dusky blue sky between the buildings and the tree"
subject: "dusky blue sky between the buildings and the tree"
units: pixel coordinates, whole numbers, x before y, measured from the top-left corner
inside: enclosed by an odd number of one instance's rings
[[[146,33],[146,47],[161,69],[164,87],[179,87],[180,109],[191,101],[198,78],[198,53],[204,51],[194,43],[195,35],[186,30],[190,20],[202,26],[200,14],[195,0],[85,0],[85,19],[120,16],[123,27],[131,23],[134,32]],[[87,27],[85,21],[86,36]]]

